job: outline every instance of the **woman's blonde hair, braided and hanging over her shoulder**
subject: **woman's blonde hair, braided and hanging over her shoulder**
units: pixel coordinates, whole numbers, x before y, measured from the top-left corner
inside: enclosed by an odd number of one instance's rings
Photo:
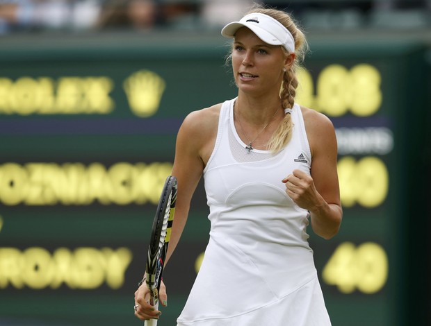
[[[305,39],[305,35],[302,33],[302,31],[300,31],[298,24],[295,22],[293,17],[291,17],[291,15],[289,15],[287,12],[273,8],[267,8],[259,4],[252,6],[247,14],[252,12],[259,12],[261,14],[273,17],[280,24],[287,28],[287,30],[292,34],[293,40],[295,40],[295,60],[293,61],[293,65],[284,73],[282,87],[279,94],[282,100],[283,108],[293,108],[295,103],[296,88],[299,84],[296,74],[308,51],[308,44],[307,40]],[[286,55],[288,55],[288,52],[283,46],[282,50],[284,53],[286,53]],[[268,141],[268,149],[273,153],[281,151],[291,140],[292,130],[293,122],[291,119],[291,114],[285,114],[283,121],[279,124],[277,130],[275,130],[273,136]]]

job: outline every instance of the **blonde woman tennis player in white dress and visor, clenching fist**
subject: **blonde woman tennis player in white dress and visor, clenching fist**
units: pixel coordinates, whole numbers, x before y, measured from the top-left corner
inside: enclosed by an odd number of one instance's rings
[[[177,325],[331,325],[307,226],[330,239],[341,225],[336,137],[327,117],[295,103],[307,42],[290,15],[262,7],[222,35],[233,39],[238,96],[190,113],[177,137],[168,257],[201,175],[211,221]],[[141,320],[160,313],[145,302],[147,292],[136,291]],[[163,284],[161,302],[166,298]]]

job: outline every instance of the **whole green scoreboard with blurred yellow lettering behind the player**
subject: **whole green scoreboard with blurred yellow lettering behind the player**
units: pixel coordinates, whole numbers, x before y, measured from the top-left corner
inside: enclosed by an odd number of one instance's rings
[[[1,40],[0,325],[140,325],[133,293],[177,130],[189,112],[236,96],[224,42]],[[339,143],[341,231],[326,241],[309,230],[332,324],[405,325],[411,295],[425,300],[412,290],[425,272],[409,268],[421,266],[411,234],[425,216],[412,207],[427,188],[409,174],[429,155],[427,51],[329,36],[310,45],[298,103],[330,117]],[[201,182],[165,270],[160,325],[176,325],[207,214]]]

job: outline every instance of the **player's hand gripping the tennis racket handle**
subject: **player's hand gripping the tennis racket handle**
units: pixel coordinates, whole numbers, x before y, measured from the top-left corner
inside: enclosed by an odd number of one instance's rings
[[[166,307],[168,296],[166,295],[166,286],[163,280],[160,284],[158,292],[158,302]],[[161,311],[157,310],[149,302],[149,289],[147,284],[143,282],[135,292],[135,316],[140,320],[158,319],[161,316]]]

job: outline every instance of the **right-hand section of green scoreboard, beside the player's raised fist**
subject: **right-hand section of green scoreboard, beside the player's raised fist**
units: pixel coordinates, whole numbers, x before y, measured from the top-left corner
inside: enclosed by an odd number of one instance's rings
[[[421,45],[382,40],[316,42],[302,71],[298,101],[330,117],[339,145],[341,231],[310,239],[333,325],[419,325],[408,232],[425,188],[409,179],[427,155],[426,71]]]

